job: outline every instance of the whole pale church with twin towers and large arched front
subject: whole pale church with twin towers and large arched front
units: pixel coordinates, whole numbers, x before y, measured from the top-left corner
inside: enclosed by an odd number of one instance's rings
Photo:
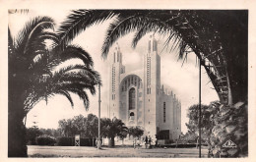
[[[160,84],[158,42],[150,36],[142,67],[126,72],[118,44],[109,55],[109,118],[127,127],[140,126],[144,135],[175,140],[181,134],[181,103]]]

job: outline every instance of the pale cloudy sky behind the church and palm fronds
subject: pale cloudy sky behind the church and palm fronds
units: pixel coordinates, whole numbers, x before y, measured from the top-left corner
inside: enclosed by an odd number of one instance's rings
[[[49,16],[53,18],[58,26],[67,16],[69,11],[64,10],[36,10],[28,14],[12,14],[9,15],[9,27],[11,33],[15,36],[18,31],[25,25],[27,21],[36,16]],[[101,87],[101,117],[107,115],[108,104],[108,79],[109,79],[109,62],[101,58],[101,46],[105,37],[106,29],[111,23],[111,20],[92,26],[79,34],[72,44],[78,44],[88,51],[95,62],[95,70],[99,72],[102,80]],[[142,57],[146,52],[147,41],[149,34],[145,35],[138,43],[137,47],[133,49],[131,42],[133,34],[129,33],[120,39],[118,44],[123,53],[123,65],[126,66],[126,71],[136,70],[141,67]],[[188,122],[186,117],[187,109],[193,104],[198,104],[198,87],[199,87],[199,69],[196,65],[196,56],[194,53],[188,54],[188,59],[182,66],[182,60],[178,60],[177,51],[169,52],[169,49],[162,50],[164,36],[155,35],[159,43],[160,65],[161,65],[161,84],[172,90],[181,101],[181,131],[187,132],[185,123]],[[111,53],[112,48],[110,49]],[[160,52],[162,51],[162,52]],[[81,63],[78,60],[71,60],[73,63]],[[218,100],[218,95],[213,89],[212,82],[208,78],[205,70],[202,68],[202,103],[209,104],[211,101]],[[90,92],[88,92],[90,93]],[[68,99],[61,95],[55,95],[50,98],[48,103],[40,101],[36,104],[27,117],[27,127],[32,127],[34,122],[39,128],[53,128],[58,127],[58,121],[61,119],[72,118],[76,115],[87,116],[90,113],[97,115],[98,93],[90,96],[90,108],[86,111],[83,101],[78,96],[72,95],[74,100],[74,107],[72,108]]]

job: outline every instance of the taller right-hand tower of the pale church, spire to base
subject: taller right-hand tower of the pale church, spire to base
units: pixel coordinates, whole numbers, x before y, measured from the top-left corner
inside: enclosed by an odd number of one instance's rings
[[[144,56],[144,85],[144,127],[148,135],[155,137],[159,125],[160,55],[154,35],[150,36]]]

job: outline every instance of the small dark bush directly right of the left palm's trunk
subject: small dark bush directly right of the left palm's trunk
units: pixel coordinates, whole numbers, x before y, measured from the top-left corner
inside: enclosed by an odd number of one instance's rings
[[[29,128],[26,130],[26,139],[28,144],[34,145],[35,137],[42,135],[43,133],[38,128]]]

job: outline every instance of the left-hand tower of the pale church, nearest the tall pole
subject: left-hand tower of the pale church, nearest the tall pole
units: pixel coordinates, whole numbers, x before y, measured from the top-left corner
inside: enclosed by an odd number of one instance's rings
[[[119,82],[120,74],[125,73],[122,65],[122,53],[118,43],[110,55],[110,82],[109,82],[109,118],[119,118]]]

